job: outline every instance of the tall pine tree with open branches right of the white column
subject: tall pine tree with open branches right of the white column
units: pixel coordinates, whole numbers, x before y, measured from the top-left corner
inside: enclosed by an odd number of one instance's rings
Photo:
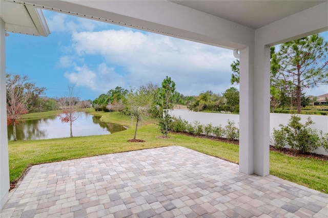
[[[278,76],[290,85],[301,113],[302,92],[317,85],[328,84],[328,42],[318,34],[286,42],[277,53]],[[293,100],[293,99],[292,99]]]

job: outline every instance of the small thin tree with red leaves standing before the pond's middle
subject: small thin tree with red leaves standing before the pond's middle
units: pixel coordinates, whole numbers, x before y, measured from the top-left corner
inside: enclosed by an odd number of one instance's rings
[[[59,107],[63,110],[63,114],[59,114],[58,117],[63,123],[70,123],[70,137],[73,137],[72,133],[72,124],[75,120],[78,119],[79,115],[77,114],[79,102],[78,97],[74,96],[74,86],[68,86],[68,96],[64,95],[58,99]]]

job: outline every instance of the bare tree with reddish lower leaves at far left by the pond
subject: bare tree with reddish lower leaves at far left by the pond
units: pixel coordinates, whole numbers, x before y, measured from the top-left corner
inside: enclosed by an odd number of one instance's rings
[[[19,123],[18,120],[33,108],[31,98],[38,98],[46,90],[46,88],[38,88],[35,83],[27,82],[28,80],[27,76],[6,75],[7,124],[13,125],[14,141],[17,140],[16,124]]]

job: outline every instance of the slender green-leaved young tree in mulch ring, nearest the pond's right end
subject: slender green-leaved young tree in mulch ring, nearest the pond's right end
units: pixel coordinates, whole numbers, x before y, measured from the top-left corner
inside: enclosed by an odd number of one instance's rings
[[[127,95],[127,107],[132,117],[136,119],[133,140],[136,140],[138,123],[148,115],[153,102],[153,96],[145,93],[142,89],[131,89]]]

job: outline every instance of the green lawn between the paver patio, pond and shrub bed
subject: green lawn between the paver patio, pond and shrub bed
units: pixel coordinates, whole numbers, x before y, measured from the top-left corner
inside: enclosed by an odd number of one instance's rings
[[[138,149],[179,145],[204,154],[238,163],[237,145],[194,138],[180,134],[169,134],[169,139],[161,136],[155,120],[149,119],[138,128],[137,138],[146,142],[129,143],[133,138],[134,126],[131,118],[120,117],[117,113],[92,112],[103,116],[105,122],[118,123],[130,128],[122,132],[103,136],[87,136],[32,141],[9,142],[10,182],[14,182],[29,165],[49,163],[77,158],[113,154]],[[280,152],[270,152],[271,175],[289,180],[306,187],[328,193],[328,161],[313,158],[289,157]]]

